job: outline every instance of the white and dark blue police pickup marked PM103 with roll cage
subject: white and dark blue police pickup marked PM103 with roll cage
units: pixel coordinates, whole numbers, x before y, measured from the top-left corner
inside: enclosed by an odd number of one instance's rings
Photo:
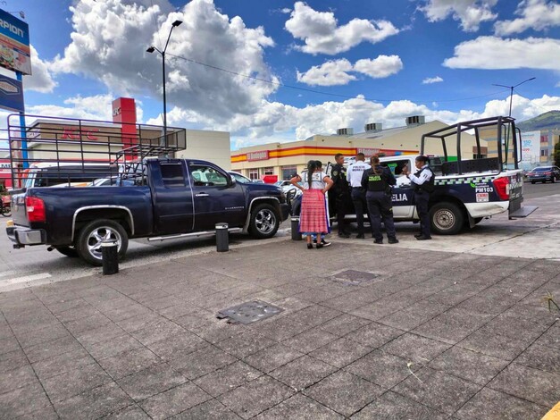
[[[477,139],[477,149],[470,156],[461,155],[461,133],[469,130]],[[494,146],[480,138],[480,130],[496,130]],[[483,218],[509,212],[509,218],[525,217],[537,207],[522,207],[521,147],[515,130],[514,119],[492,117],[483,120],[460,122],[445,129],[432,131],[422,136],[421,154],[426,141],[441,141],[442,155],[429,156],[430,168],[436,175],[435,190],[430,195],[431,228],[435,233],[453,235],[465,226],[472,228]],[[482,143],[483,142],[483,143]],[[447,147],[455,143],[453,150],[457,156],[447,155]],[[491,157],[484,157],[481,144],[492,151]],[[499,145],[499,147],[497,146]],[[433,147],[431,147],[433,149]],[[487,152],[490,155],[490,152]],[[396,222],[418,221],[413,202],[414,188],[403,174],[408,166],[415,171],[414,159],[417,155],[397,155],[381,157],[382,165],[389,167],[397,178],[393,187],[393,214]],[[472,157],[472,158],[471,158]],[[350,204],[351,206],[351,204]],[[334,214],[330,206],[330,216]],[[353,209],[347,212],[347,219],[355,219]]]

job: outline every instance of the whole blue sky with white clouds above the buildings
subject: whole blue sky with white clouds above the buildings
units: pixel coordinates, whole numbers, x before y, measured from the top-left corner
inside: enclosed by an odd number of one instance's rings
[[[29,23],[28,113],[227,130],[232,147],[560,109],[555,0],[5,0]],[[5,113],[0,117],[4,119]]]

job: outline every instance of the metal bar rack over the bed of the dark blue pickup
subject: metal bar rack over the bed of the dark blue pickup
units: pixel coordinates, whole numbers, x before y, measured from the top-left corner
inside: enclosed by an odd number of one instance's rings
[[[143,185],[148,158],[175,157],[186,130],[127,122],[24,115],[8,116],[7,145],[13,188]],[[5,144],[5,143],[4,143]]]

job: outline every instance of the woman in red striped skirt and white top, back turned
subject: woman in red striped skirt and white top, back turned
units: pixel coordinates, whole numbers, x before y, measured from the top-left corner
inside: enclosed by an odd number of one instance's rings
[[[296,175],[290,180],[291,184],[303,191],[301,213],[299,214],[299,231],[306,235],[307,249],[313,248],[313,234],[317,235],[317,249],[328,247],[323,235],[330,233],[330,221],[327,213],[325,194],[332,187],[332,180],[322,172],[319,161],[309,161],[307,172]],[[303,185],[298,182],[303,181]]]

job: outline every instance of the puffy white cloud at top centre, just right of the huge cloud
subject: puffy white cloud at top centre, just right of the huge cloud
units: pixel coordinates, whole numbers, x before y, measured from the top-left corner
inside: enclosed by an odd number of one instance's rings
[[[399,31],[389,21],[353,19],[339,26],[334,13],[317,12],[303,2],[294,4],[285,28],[294,38],[305,42],[296,46],[298,50],[313,55],[335,55],[362,42],[375,44]]]

